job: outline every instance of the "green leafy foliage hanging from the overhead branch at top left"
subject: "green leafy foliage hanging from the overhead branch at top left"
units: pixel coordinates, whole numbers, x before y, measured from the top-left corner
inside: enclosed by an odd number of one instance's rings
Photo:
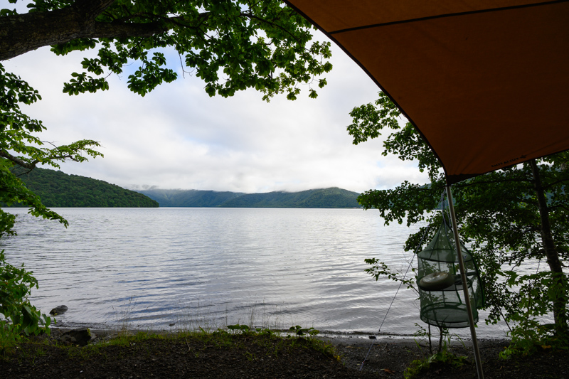
[[[65,55],[73,50],[98,48],[97,58],[83,60],[83,73],[73,73],[63,92],[107,90],[108,75],[128,75],[132,92],[146,95],[178,73],[168,60],[183,63],[205,83],[206,92],[229,97],[255,88],[265,100],[286,93],[294,100],[299,84],[308,85],[309,97],[331,70],[330,43],[312,39],[312,26],[302,16],[276,0],[225,1],[105,1],[87,38],[73,38],[52,47]],[[110,5],[108,5],[110,4]],[[33,1],[31,13],[81,6],[78,1]],[[174,50],[174,51],[173,51]],[[172,54],[174,53],[174,54]],[[176,56],[178,55],[178,56]],[[183,68],[184,70],[184,68]],[[314,87],[313,87],[314,84]]]

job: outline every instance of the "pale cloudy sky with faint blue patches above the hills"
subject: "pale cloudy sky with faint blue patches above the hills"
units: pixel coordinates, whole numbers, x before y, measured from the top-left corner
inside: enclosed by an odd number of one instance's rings
[[[352,144],[349,112],[376,100],[378,87],[334,44],[332,52],[334,68],[324,75],[329,84],[317,99],[303,88],[298,100],[281,95],[269,103],[255,90],[209,97],[199,78],[182,77],[176,60],[169,65],[179,79],[145,97],[128,90],[127,75],[110,76],[108,91],[63,94],[63,83],[82,71],[80,61],[94,50],[58,57],[46,47],[3,64],[43,97],[23,108],[47,127],[39,135],[43,141],[102,144],[104,158],[66,162],[66,174],[130,189],[245,193],[327,187],[361,193],[405,180],[425,183],[415,163],[381,155],[381,138]]]

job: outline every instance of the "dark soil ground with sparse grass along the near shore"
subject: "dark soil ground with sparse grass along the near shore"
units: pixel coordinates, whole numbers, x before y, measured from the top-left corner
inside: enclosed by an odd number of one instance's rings
[[[330,342],[333,346],[326,347],[306,338],[179,334],[82,348],[43,338],[0,353],[0,378],[403,378],[413,360],[428,355],[428,348],[414,341]],[[504,361],[498,353],[505,346],[507,341],[481,341],[485,378],[569,378],[567,351]],[[453,344],[450,349],[470,356],[469,363],[462,368],[432,365],[417,378],[477,378],[472,348]]]

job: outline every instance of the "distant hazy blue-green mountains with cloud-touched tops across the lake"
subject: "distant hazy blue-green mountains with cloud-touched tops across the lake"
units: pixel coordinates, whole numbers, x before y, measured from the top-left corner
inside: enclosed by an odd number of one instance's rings
[[[161,207],[228,208],[355,208],[359,193],[341,188],[323,188],[302,192],[236,193],[198,190],[140,191]]]

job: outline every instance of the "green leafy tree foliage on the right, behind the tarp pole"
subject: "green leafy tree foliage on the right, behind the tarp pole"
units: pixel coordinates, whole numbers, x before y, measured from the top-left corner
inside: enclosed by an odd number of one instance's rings
[[[413,225],[430,220],[444,191],[445,176],[413,125],[400,126],[399,112],[382,93],[375,105],[354,108],[351,115],[353,124],[348,130],[354,144],[390,128],[393,132],[385,139],[383,154],[417,161],[430,178],[427,185],[405,181],[393,189],[366,191],[358,201],[366,209],[378,209],[385,223]],[[453,186],[459,233],[482,270],[490,311],[486,322],[514,321],[516,336],[532,331],[538,333],[537,339],[548,338],[567,330],[569,287],[562,267],[569,260],[568,164],[569,154],[563,152]],[[435,225],[440,223],[438,218],[437,213]],[[435,231],[420,228],[405,242],[405,250],[422,249]],[[372,265],[367,271],[374,277],[393,279],[394,274],[379,260],[366,262]],[[555,326],[544,328],[538,319],[551,314]]]

